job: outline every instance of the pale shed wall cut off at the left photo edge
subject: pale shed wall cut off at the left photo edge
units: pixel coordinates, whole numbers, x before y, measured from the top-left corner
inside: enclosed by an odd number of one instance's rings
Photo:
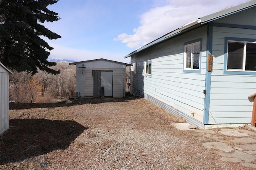
[[[0,134],[9,129],[9,72],[0,65]]]

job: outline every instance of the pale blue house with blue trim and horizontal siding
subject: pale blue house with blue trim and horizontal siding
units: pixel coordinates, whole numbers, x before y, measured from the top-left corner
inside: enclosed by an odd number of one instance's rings
[[[252,121],[256,1],[192,21],[131,57],[131,94],[200,128]]]

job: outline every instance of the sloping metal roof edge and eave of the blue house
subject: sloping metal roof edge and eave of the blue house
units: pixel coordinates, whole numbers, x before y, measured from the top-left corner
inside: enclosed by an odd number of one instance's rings
[[[132,53],[126,55],[124,58],[128,58],[128,57],[134,55],[135,53],[138,53],[139,51],[147,49],[147,48],[149,48],[153,45],[156,45],[156,44],[158,44],[162,41],[166,41],[167,39],[175,37],[176,35],[180,35],[180,34],[186,32],[186,31],[189,31],[190,29],[193,29],[194,27],[204,25],[208,22],[211,22],[211,21],[214,21],[214,20],[229,16],[229,15],[235,14],[237,12],[246,10],[248,8],[252,8],[254,6],[256,6],[256,0],[252,0],[252,1],[246,2],[244,4],[240,4],[238,6],[234,6],[234,7],[231,7],[231,8],[228,8],[228,9],[225,9],[225,10],[222,10],[222,11],[219,11],[219,12],[216,12],[216,13],[198,18],[197,20],[194,20],[190,23],[187,23],[187,24],[183,25],[182,27],[179,27],[178,29],[175,29],[174,31],[172,31],[172,32],[170,32],[170,33],[168,33],[168,34],[166,34],[166,35],[148,43],[147,45],[144,45],[140,49],[137,49],[137,50],[133,51]]]

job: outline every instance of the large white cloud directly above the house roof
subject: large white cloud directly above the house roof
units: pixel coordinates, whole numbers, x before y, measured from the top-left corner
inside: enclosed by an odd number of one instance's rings
[[[178,27],[202,16],[238,5],[241,1],[166,1],[140,16],[140,26],[134,34],[122,33],[114,41],[126,43],[129,48],[140,48]]]

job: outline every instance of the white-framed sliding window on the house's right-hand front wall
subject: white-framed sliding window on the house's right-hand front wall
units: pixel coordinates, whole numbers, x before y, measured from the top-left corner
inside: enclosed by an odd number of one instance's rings
[[[228,41],[227,70],[256,71],[256,43]]]

